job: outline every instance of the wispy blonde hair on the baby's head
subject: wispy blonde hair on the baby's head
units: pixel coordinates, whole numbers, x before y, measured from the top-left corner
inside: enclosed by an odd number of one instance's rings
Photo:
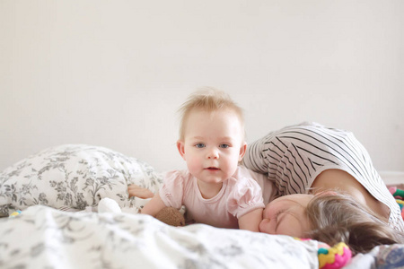
[[[189,95],[189,99],[180,106],[180,140],[184,140],[187,119],[190,112],[194,109],[201,109],[209,113],[225,109],[233,111],[239,117],[242,124],[242,138],[244,139],[245,131],[242,108],[226,92],[206,87]]]

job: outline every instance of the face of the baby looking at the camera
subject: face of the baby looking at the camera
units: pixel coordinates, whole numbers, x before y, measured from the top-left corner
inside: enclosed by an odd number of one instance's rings
[[[233,176],[244,155],[242,123],[231,110],[214,114],[194,110],[178,147],[194,177],[206,183],[221,183]]]

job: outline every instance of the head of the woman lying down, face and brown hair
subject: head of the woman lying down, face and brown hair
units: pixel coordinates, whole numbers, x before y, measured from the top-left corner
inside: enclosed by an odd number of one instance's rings
[[[281,213],[277,213],[278,210]],[[277,218],[266,221],[271,216]],[[336,192],[277,198],[267,205],[263,217],[259,225],[263,232],[316,239],[330,246],[344,242],[353,253],[365,253],[378,245],[403,242],[399,231],[380,221],[367,207],[349,195]],[[271,221],[274,223],[270,224]]]

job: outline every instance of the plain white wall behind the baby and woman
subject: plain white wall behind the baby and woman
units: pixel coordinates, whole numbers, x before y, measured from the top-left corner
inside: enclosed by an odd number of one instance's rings
[[[312,120],[404,170],[403,13],[401,0],[2,0],[0,169],[61,143],[183,168],[175,111],[209,85],[245,108],[249,142]]]

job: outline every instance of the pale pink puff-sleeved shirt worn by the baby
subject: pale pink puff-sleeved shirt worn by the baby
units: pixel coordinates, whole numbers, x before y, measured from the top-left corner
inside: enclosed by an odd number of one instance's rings
[[[224,180],[222,189],[210,199],[202,197],[197,178],[188,170],[168,172],[159,194],[166,206],[180,209],[185,205],[187,219],[219,228],[237,229],[242,215],[265,207],[259,184],[244,167]]]

